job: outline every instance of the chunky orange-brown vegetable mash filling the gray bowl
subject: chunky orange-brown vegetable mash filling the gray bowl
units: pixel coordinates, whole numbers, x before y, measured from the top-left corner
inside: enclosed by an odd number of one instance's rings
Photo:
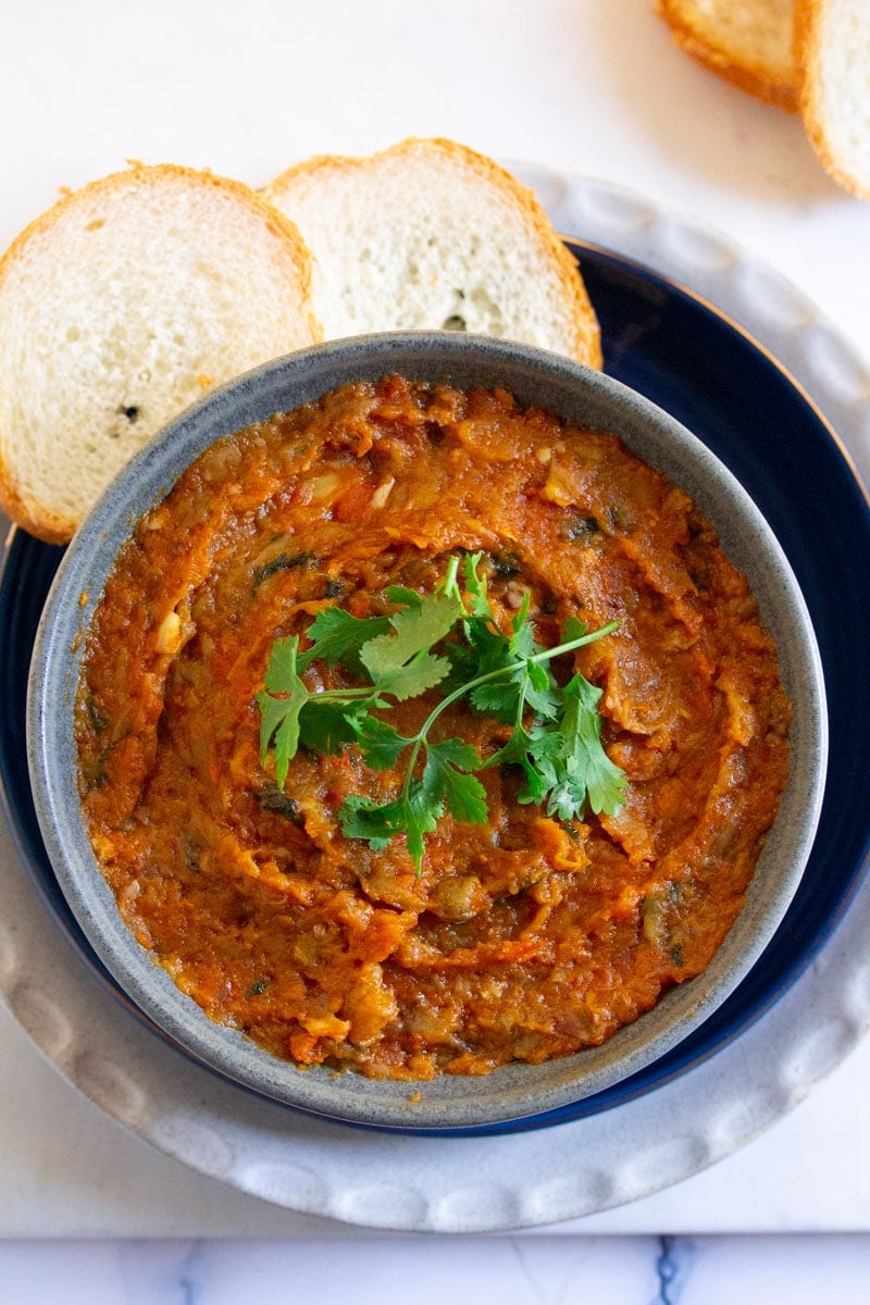
[[[554,667],[604,689],[627,778],[569,825],[480,771],[489,822],[343,837],[398,770],[260,758],[273,642],[338,604],[390,611],[481,552],[493,609],[610,634]],[[342,679],[344,677],[344,679]],[[313,663],[312,689],[350,683]],[[419,728],[438,690],[390,719]],[[80,791],[119,910],[213,1019],[279,1057],[373,1078],[483,1074],[601,1043],[699,974],[745,899],[788,774],[789,703],[746,581],[689,497],[607,433],[503,392],[359,382],[219,441],[121,548],[76,707]],[[485,756],[506,727],[440,722]],[[509,732],[509,731],[507,731]]]

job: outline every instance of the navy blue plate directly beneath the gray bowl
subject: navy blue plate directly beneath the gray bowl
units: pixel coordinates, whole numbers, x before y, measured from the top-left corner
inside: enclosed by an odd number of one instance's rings
[[[870,633],[870,509],[863,492],[826,423],[754,341],[650,270],[596,248],[570,248],[582,261],[599,315],[605,371],[659,403],[717,454],[749,489],[788,555],[826,671],[827,796],[814,851],[780,929],[743,983],[699,1030],[653,1065],[596,1096],[509,1124],[455,1130],[463,1134],[528,1130],[595,1114],[669,1082],[721,1049],[817,955],[861,883],[870,856],[870,676],[861,637]],[[0,780],[18,853],[42,900],[93,972],[129,1006],[60,893],[26,769],[30,650],[60,556],[60,548],[23,532],[14,535],[7,552],[0,577]]]

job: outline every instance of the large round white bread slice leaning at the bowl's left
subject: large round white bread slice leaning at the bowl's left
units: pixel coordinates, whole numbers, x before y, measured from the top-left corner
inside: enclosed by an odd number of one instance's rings
[[[321,333],[299,232],[236,181],[136,166],[61,200],[0,260],[0,504],[70,538],[203,389]]]

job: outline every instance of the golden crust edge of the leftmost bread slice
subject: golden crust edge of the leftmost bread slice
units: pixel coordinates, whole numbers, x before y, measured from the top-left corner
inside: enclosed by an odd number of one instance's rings
[[[34,239],[51,231],[59,218],[69,210],[90,205],[103,194],[129,189],[130,183],[142,187],[162,185],[167,180],[181,181],[184,185],[219,189],[244,204],[252,213],[263,219],[265,227],[282,244],[283,252],[292,261],[295,275],[301,287],[300,316],[310,326],[312,341],[322,339],[322,329],[310,307],[310,253],[296,226],[262,196],[241,181],[218,176],[207,171],[184,167],[176,163],[146,166],[133,162],[129,168],[112,172],[108,176],[89,181],[77,191],[64,193],[50,209],[34,218],[12,241],[0,258],[0,295],[9,271],[25,256]],[[0,508],[10,521],[22,526],[29,534],[51,544],[64,544],[72,539],[80,525],[80,518],[57,512],[50,502],[30,501],[26,504],[18,491],[20,474],[14,458],[9,458],[9,441],[0,432]]]

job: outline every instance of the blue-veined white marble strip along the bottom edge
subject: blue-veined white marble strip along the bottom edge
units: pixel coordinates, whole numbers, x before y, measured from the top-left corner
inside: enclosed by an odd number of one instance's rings
[[[500,1237],[20,1244],[0,1255],[16,1305],[865,1305],[867,1251],[847,1237]]]

